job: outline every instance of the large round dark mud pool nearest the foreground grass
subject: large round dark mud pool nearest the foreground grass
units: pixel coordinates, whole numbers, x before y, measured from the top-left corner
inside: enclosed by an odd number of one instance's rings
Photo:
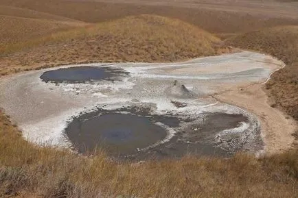
[[[65,132],[80,153],[104,149],[113,156],[131,155],[166,138],[168,132],[157,121],[177,125],[177,119],[135,114],[122,110],[102,110],[83,114],[68,125]]]

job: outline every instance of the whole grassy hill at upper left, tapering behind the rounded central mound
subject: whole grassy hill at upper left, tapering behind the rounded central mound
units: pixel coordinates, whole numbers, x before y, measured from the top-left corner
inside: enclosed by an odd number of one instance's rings
[[[0,55],[11,45],[84,25],[86,23],[71,18],[0,5]]]

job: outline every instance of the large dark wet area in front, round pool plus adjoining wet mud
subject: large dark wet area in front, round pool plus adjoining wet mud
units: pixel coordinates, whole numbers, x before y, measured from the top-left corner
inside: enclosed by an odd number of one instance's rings
[[[247,118],[241,114],[204,114],[192,119],[152,114],[148,109],[99,108],[73,118],[65,132],[79,153],[103,149],[112,158],[123,160],[181,158],[190,153],[229,156],[242,148],[220,147],[214,138],[243,122]],[[232,138],[237,140],[237,136]]]

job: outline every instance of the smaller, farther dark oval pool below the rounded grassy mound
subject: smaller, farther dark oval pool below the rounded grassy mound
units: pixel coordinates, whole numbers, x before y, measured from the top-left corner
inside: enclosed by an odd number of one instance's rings
[[[46,71],[41,75],[44,82],[54,83],[82,83],[88,81],[113,80],[127,75],[123,69],[99,66],[75,66],[53,71]]]

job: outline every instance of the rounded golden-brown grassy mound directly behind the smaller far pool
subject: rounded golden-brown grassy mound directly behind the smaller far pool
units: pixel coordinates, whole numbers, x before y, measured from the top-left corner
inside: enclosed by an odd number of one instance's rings
[[[150,15],[52,34],[22,47],[31,45],[40,47],[0,58],[0,73],[70,62],[170,62],[229,51],[219,38],[198,27]]]

